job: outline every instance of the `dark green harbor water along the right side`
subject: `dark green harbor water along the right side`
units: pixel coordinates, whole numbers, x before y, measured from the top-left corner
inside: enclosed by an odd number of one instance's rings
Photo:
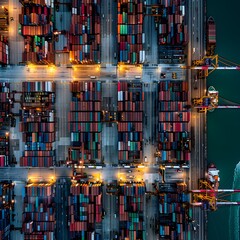
[[[239,8],[236,0],[207,1],[207,15],[216,22],[216,53],[235,63],[231,66],[240,65]],[[231,105],[230,101],[240,105],[239,71],[216,70],[208,77],[207,85],[214,86],[225,99],[220,98],[220,105]],[[207,129],[208,162],[215,163],[220,170],[219,188],[240,189],[240,109],[208,113]],[[240,196],[228,196],[231,198],[240,202]],[[216,212],[208,213],[208,240],[239,240],[239,235],[239,207],[219,206]]]

